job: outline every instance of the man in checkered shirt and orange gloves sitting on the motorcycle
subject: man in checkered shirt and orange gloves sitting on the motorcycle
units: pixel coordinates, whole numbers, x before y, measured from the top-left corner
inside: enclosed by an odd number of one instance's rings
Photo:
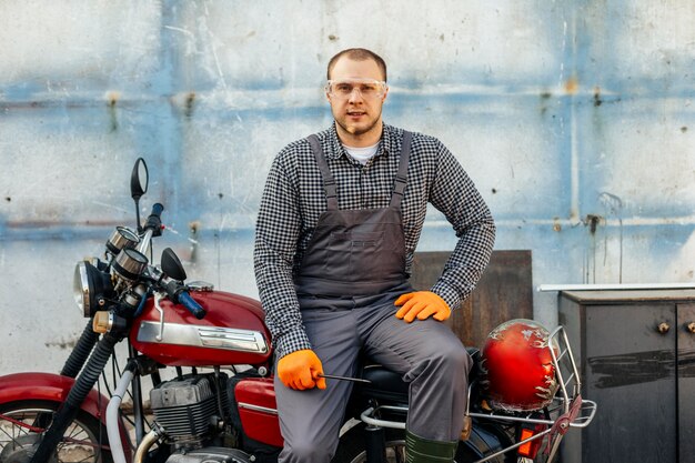
[[[472,361],[442,323],[471,293],[492,252],[490,210],[435,138],[382,121],[384,61],[348,49],[328,66],[334,123],[285,147],[271,167],[254,266],[276,348],[280,462],[329,463],[364,353],[410,382],[409,462],[451,462]],[[410,269],[426,203],[459,242],[430,291]]]

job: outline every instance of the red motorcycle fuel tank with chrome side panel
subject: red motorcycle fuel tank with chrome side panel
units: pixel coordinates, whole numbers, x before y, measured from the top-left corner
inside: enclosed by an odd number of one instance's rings
[[[169,366],[262,365],[271,355],[271,336],[261,303],[223,291],[191,292],[205,310],[195,319],[182,305],[150,299],[135,319],[130,341],[144,355]]]

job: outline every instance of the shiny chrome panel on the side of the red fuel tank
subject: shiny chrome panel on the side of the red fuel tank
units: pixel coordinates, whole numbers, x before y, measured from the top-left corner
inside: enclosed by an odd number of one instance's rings
[[[142,322],[138,330],[138,341],[263,354],[269,350],[260,331],[178,323],[160,325],[159,322]]]

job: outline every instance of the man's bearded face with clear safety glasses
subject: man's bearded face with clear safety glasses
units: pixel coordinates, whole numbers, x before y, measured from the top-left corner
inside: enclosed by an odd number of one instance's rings
[[[335,119],[338,135],[351,147],[369,147],[379,141],[382,131],[381,111],[386,99],[385,84],[374,92],[371,85],[384,79],[373,60],[355,61],[341,57],[331,70],[331,82],[339,82],[342,92],[326,94]],[[381,83],[380,83],[381,85]],[[336,88],[336,85],[332,85]],[[350,91],[350,89],[353,89]]]

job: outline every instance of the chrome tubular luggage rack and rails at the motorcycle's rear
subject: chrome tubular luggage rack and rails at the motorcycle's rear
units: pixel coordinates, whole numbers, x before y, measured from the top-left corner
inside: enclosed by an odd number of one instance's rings
[[[555,342],[553,342],[555,341]],[[553,346],[557,346],[557,352]],[[553,365],[555,366],[555,375],[557,379],[557,392],[553,397],[553,401],[545,410],[548,415],[555,416],[554,419],[538,419],[538,411],[531,412],[505,412],[491,410],[490,412],[471,412],[471,395],[476,383],[469,385],[469,402],[466,407],[466,416],[476,420],[495,420],[508,423],[527,423],[527,424],[541,424],[546,425],[547,429],[532,435],[528,439],[524,439],[516,442],[498,452],[486,455],[481,460],[476,460],[475,463],[483,463],[500,456],[508,451],[517,449],[528,442],[537,439],[544,439],[548,436],[548,457],[547,462],[553,461],[553,457],[557,453],[560,442],[564,437],[565,433],[572,427],[586,427],[594,419],[596,414],[597,404],[594,401],[582,399],[581,390],[582,383],[580,380],[580,373],[572,354],[572,349],[567,340],[567,333],[563,326],[557,326],[548,336],[547,349],[551,352],[553,359]],[[407,414],[407,406],[396,405],[379,405],[375,407],[369,407],[362,412],[360,419],[369,425],[392,427],[392,429],[405,429],[405,422],[389,421],[375,417],[381,411],[396,412]]]

